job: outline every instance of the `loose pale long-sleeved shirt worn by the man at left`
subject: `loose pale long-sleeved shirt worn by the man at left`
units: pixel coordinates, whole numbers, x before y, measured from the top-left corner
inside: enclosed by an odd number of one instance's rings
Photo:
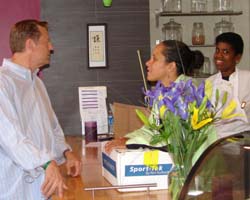
[[[0,67],[0,199],[43,199],[41,168],[70,148],[36,73],[4,59]]]

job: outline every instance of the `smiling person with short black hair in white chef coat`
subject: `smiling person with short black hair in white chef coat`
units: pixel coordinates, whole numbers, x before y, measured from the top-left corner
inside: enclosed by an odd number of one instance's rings
[[[228,100],[234,98],[237,101],[235,113],[241,114],[225,124],[217,124],[219,137],[226,137],[234,133],[250,130],[250,71],[236,67],[243,54],[244,43],[237,33],[222,33],[215,39],[216,49],[214,63],[218,73],[209,77],[215,89],[219,89],[222,96],[228,92]]]

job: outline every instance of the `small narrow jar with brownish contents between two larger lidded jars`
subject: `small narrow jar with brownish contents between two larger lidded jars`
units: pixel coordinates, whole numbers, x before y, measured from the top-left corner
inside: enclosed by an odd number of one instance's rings
[[[202,22],[194,22],[192,30],[192,44],[203,45],[205,44],[205,33]]]

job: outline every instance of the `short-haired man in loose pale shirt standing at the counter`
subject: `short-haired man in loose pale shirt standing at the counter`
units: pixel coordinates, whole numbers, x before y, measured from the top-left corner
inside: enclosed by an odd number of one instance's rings
[[[37,77],[53,50],[46,22],[23,20],[10,32],[12,57],[0,67],[0,199],[39,200],[67,189],[81,163],[65,142],[47,91]]]

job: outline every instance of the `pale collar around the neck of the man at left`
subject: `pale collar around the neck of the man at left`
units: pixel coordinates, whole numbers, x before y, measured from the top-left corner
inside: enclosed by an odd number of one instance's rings
[[[33,80],[33,77],[36,76],[38,69],[36,69],[33,73],[30,69],[23,67],[22,65],[18,65],[12,62],[10,59],[3,59],[2,66],[8,68],[18,76],[22,77],[23,79]]]

